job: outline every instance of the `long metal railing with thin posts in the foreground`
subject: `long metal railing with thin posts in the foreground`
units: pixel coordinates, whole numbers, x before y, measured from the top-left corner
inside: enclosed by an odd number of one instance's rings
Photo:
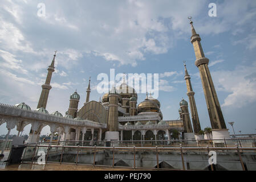
[[[197,151],[200,156],[209,155],[209,151],[216,151],[218,154],[226,154],[228,152],[229,154],[238,155],[238,159],[234,159],[234,163],[240,163],[241,169],[243,171],[246,170],[245,163],[243,162],[242,155],[245,155],[246,152],[256,152],[256,148],[253,147],[239,147],[238,144],[235,144],[235,147],[182,147],[180,144],[179,147],[97,147],[97,146],[65,146],[64,144],[62,146],[60,145],[42,145],[41,144],[26,144],[26,148],[23,152],[22,156],[22,162],[32,162],[36,163],[36,161],[39,158],[38,152],[44,151],[46,152],[46,161],[45,163],[59,163],[59,164],[75,164],[75,165],[89,165],[89,166],[101,166],[101,167],[121,167],[122,165],[117,165],[118,162],[123,159],[122,156],[131,156],[131,158],[127,158],[126,160],[129,161],[130,166],[123,165],[125,168],[133,168],[133,169],[162,169],[161,163],[160,163],[160,157],[162,158],[162,155],[166,154],[166,152],[169,152],[170,155],[175,154],[180,155],[180,160],[177,160],[176,163],[179,163],[180,167],[172,167],[172,168],[165,168],[169,170],[188,170],[188,164],[187,167],[185,167],[185,160],[184,155],[188,155],[188,152]],[[104,160],[107,160],[107,163],[98,163],[100,162],[100,154],[103,154],[104,152],[107,152],[107,155],[104,155]],[[144,157],[145,163],[155,163],[152,167],[143,167],[139,166],[139,162],[141,162],[141,155],[144,153],[150,153],[148,154],[148,158]],[[97,156],[96,156],[97,154]],[[234,156],[233,155],[233,156]],[[80,158],[79,158],[80,156]],[[86,156],[83,158],[83,156]],[[107,156],[107,157],[106,157]],[[116,158],[117,156],[117,158]],[[155,159],[154,159],[155,158]],[[207,160],[197,160],[196,162],[201,163],[208,163]],[[88,160],[90,159],[90,160]],[[97,160],[97,161],[96,161]],[[162,159],[161,159],[162,161]],[[187,160],[186,160],[187,162]],[[191,162],[191,161],[190,161]],[[230,160],[227,160],[227,163],[230,163]],[[161,165],[160,165],[161,164]],[[256,165],[255,162],[253,162],[253,165]],[[150,165],[149,165],[150,166]],[[191,169],[191,168],[190,168]],[[193,169],[193,168],[192,168]],[[214,164],[208,164],[209,170],[214,170]]]

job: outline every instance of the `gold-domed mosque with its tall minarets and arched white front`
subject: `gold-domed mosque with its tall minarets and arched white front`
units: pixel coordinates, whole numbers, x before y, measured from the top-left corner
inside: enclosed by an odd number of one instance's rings
[[[204,55],[200,43],[200,35],[196,33],[191,20],[190,25],[192,27],[192,37],[190,42],[193,44],[194,52],[196,54],[196,66],[200,71],[206,105],[208,106],[210,122],[213,129],[213,139],[230,138],[218,102],[212,77],[210,76],[208,68],[209,59]],[[44,114],[48,114],[46,105],[51,89],[51,76],[55,71],[55,57],[56,51],[52,63],[48,67],[46,82],[42,85],[42,93],[40,94],[36,109],[36,111]],[[199,132],[201,126],[198,118],[196,101],[194,100],[195,93],[192,89],[186,65],[184,66],[184,79],[188,90],[187,96],[189,98],[190,111],[188,109],[188,102],[182,99],[179,103],[180,109],[178,110],[180,119],[168,121],[162,120],[161,103],[156,98],[153,98],[151,94],[148,96],[147,93],[145,100],[138,104],[136,90],[127,85],[125,77],[120,86],[112,88],[108,93],[105,93],[102,96],[102,99],[99,101],[90,101],[90,78],[84,105],[81,108],[78,108],[80,96],[77,92],[72,93],[70,96],[70,105],[64,118],[80,122],[86,120],[104,123],[107,127],[104,129],[87,130],[82,135],[80,135],[79,130],[71,128],[68,135],[69,137],[67,138],[62,135],[60,140],[161,140],[170,139],[174,130],[181,133],[180,139],[200,139],[201,135]],[[25,103],[18,104],[16,107],[20,109],[30,109]],[[191,114],[192,122],[190,121],[189,113]],[[63,117],[59,111],[55,111],[52,115]],[[38,138],[38,134],[40,134],[38,131],[32,131],[31,129],[28,140],[31,140],[32,135],[37,135]]]

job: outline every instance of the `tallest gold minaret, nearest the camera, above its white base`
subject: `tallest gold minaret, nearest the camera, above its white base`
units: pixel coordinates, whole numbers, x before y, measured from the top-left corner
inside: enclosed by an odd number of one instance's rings
[[[194,47],[194,52],[196,54],[196,66],[199,69],[202,87],[204,89],[206,105],[208,107],[210,122],[212,125],[212,129],[226,129],[226,124],[224,121],[224,117],[222,115],[221,106],[218,101],[218,97],[216,94],[216,90],[213,85],[213,80],[210,75],[210,71],[208,68],[209,59],[205,57],[204,51],[201,46],[201,38],[194,30],[193,22],[190,19],[190,25],[192,27],[192,36],[191,43]]]

